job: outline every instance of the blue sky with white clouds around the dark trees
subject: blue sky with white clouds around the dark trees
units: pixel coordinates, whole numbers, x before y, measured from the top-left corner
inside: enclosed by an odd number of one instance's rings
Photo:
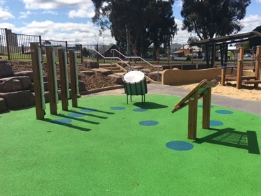
[[[94,15],[91,0],[0,0],[0,6],[0,28],[11,29],[13,33],[42,36],[43,40],[67,40],[69,44],[116,43],[109,30],[99,36],[100,27],[91,21]],[[173,43],[185,44],[194,35],[181,30],[181,8],[182,1],[175,0],[173,16],[179,30]],[[244,29],[239,33],[261,25],[261,0],[251,1],[246,17],[240,22]]]

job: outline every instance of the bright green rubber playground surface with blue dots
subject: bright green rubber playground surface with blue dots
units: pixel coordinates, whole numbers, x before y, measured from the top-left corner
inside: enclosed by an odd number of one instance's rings
[[[90,96],[0,114],[0,195],[259,195],[261,116],[212,105],[187,139],[175,96]]]

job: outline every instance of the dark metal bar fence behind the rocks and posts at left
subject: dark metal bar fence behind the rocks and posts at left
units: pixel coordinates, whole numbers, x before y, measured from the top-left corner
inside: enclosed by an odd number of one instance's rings
[[[82,63],[86,59],[99,61],[100,56],[94,54],[91,50],[95,49],[100,51],[105,56],[106,51],[111,46],[109,45],[81,45],[70,44],[67,41],[58,40],[42,40],[41,36],[32,36],[13,33],[10,29],[0,29],[0,55],[7,56],[8,60],[11,59],[31,59],[30,43],[39,43],[42,49],[42,61],[46,61],[45,46],[52,45],[57,56],[58,61],[58,47],[65,47],[68,50],[74,50],[77,54],[77,63]]]

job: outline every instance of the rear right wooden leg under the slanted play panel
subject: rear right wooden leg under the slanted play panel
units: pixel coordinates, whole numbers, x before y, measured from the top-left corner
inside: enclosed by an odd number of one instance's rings
[[[205,90],[203,94],[203,120],[202,128],[210,127],[210,107],[211,107],[211,88]]]

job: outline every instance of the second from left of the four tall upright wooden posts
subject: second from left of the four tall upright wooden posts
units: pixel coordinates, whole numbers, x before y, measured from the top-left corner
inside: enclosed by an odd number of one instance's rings
[[[56,80],[56,65],[54,56],[54,47],[52,45],[45,46],[47,59],[47,77],[48,77],[48,91],[50,113],[57,114],[57,80]]]

